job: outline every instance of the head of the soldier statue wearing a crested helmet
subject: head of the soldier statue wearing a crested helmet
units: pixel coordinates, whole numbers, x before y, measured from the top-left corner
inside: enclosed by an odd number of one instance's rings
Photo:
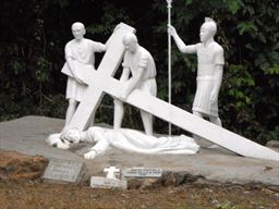
[[[204,24],[201,26],[201,41],[205,42],[210,38],[214,38],[215,34],[217,32],[217,24],[216,22],[210,17],[205,17]]]

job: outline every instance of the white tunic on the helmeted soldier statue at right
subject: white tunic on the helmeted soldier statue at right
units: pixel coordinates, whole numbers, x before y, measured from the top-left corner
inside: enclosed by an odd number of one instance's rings
[[[210,102],[210,94],[216,82],[216,65],[225,64],[223,49],[216,41],[208,46],[199,42],[186,46],[186,53],[197,53],[196,93],[192,110],[218,116],[218,102]]]

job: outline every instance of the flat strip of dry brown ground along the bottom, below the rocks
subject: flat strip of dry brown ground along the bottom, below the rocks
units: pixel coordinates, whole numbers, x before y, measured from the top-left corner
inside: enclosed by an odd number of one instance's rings
[[[0,202],[1,209],[277,209],[276,189],[263,185],[191,183],[121,190],[40,181],[0,182]]]

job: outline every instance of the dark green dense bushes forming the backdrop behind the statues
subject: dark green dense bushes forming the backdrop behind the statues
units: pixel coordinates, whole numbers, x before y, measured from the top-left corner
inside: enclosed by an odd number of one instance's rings
[[[86,37],[105,42],[119,22],[137,29],[140,44],[157,64],[158,97],[168,99],[166,1],[2,0],[0,25],[0,120],[26,114],[64,118],[66,77],[60,70],[71,24],[83,22]],[[279,138],[279,5],[276,0],[179,0],[172,24],[186,44],[198,41],[205,16],[218,23],[216,40],[226,51],[219,97],[223,126],[253,140]],[[99,61],[101,57],[97,57]],[[191,111],[195,93],[194,56],[172,49],[172,102]],[[97,122],[112,123],[112,100],[105,97]],[[124,125],[138,127],[129,107]],[[156,120],[156,131],[167,123]],[[174,132],[179,130],[174,128]]]

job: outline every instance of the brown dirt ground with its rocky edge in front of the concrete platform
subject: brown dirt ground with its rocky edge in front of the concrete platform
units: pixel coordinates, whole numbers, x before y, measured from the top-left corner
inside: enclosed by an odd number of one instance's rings
[[[96,189],[82,185],[41,181],[48,160],[13,151],[0,151],[1,209],[277,209],[279,187],[259,184],[209,183],[187,176],[177,184],[172,173],[163,183],[129,182],[129,188]],[[181,177],[181,176],[178,176]],[[140,182],[141,183],[141,182]],[[177,184],[177,186],[175,186]],[[141,185],[141,186],[137,186]]]

